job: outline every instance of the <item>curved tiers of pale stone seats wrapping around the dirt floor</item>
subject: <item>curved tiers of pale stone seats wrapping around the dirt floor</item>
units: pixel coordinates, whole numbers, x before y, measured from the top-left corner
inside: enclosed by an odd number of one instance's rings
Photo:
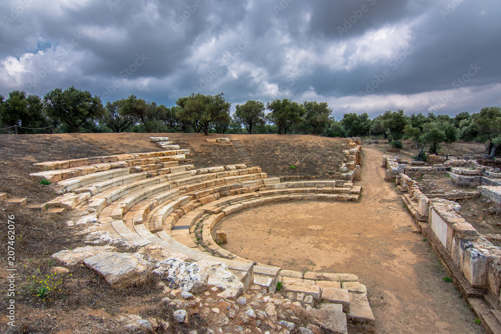
[[[244,164],[200,169],[179,165],[188,153],[170,150],[46,162],[36,164],[45,171],[31,175],[57,182],[62,195],[46,203],[48,207],[93,208],[101,229],[114,238],[159,245],[192,261],[223,262],[245,288],[256,283],[268,291],[275,291],[280,268],[256,265],[220,248],[211,236],[213,226],[223,217],[262,204],[356,202],[360,197],[359,186],[341,180],[280,182],[260,167]]]

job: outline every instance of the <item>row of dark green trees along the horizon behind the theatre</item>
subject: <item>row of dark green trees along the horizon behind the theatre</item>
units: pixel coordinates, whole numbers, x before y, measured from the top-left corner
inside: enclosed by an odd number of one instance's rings
[[[99,96],[75,87],[57,88],[43,98],[12,91],[0,95],[0,127],[25,128],[53,126],[56,132],[203,132],[233,134],[307,134],[328,137],[368,137],[388,139],[394,147],[402,139],[411,139],[425,159],[437,154],[440,144],[457,140],[486,144],[493,157],[501,148],[501,109],[486,107],[478,113],[447,115],[405,115],[403,110],[385,111],[370,119],[367,113],[347,113],[339,121],[331,116],[326,102],[276,99],[266,103],[249,100],[235,106],[217,95],[200,93],[177,99],[166,107],[131,95],[103,105]]]

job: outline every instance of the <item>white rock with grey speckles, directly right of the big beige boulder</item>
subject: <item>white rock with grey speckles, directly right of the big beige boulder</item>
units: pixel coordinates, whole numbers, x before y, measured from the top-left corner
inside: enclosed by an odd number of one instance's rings
[[[193,294],[203,292],[207,286],[208,274],[196,263],[184,262],[177,258],[167,258],[156,264],[153,274],[168,284]]]

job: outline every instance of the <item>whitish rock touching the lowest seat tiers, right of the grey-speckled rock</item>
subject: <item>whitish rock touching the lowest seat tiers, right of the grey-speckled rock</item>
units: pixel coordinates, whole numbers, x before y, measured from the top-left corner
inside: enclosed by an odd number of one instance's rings
[[[214,285],[223,290],[218,293],[218,296],[237,298],[243,292],[243,283],[228,270],[225,263],[201,260],[196,262],[196,265],[208,275],[208,285]]]

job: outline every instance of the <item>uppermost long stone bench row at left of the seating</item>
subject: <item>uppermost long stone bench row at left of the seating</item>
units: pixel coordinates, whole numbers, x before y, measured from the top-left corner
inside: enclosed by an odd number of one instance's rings
[[[142,171],[140,166],[149,165],[148,169],[151,169],[152,164],[161,164],[166,162],[179,162],[186,160],[186,154],[189,154],[188,150],[177,150],[177,151],[162,151],[162,152],[151,152],[151,153],[141,153],[135,154],[135,157],[132,154],[122,154],[119,156],[110,156],[109,158],[120,157],[123,159],[115,160],[115,161],[107,161],[107,162],[99,162],[100,160],[110,160],[104,159],[105,157],[101,157],[103,159],[84,159],[85,164],[82,162],[81,165],[77,166],[69,166],[67,168],[59,168],[58,163],[61,166],[72,165],[71,163],[61,163],[54,162],[56,166],[48,165],[50,168],[43,172],[32,173],[30,176],[49,180],[51,183],[58,182],[61,180],[66,180],[78,176],[84,176],[92,173],[102,172],[110,169],[116,168],[130,168],[130,172]],[[143,156],[144,155],[144,156]],[[149,156],[151,155],[151,156]],[[81,159],[77,159],[81,160]],[[111,159],[113,160],[113,159]],[[41,164],[51,164],[51,163],[40,163],[35,164],[39,167]],[[160,166],[159,166],[160,167]],[[162,167],[165,167],[162,165]]]

